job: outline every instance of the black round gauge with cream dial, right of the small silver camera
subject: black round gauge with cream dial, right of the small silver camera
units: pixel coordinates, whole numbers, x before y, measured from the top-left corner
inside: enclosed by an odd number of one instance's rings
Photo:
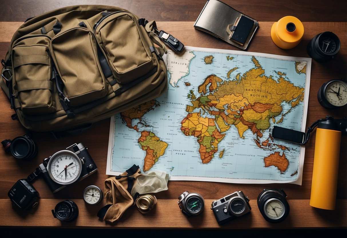
[[[285,220],[289,214],[287,194],[283,189],[264,189],[257,198],[260,213],[266,221],[279,223]]]

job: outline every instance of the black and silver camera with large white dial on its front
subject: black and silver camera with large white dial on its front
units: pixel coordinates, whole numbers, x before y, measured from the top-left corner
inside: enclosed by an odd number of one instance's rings
[[[73,144],[43,160],[39,169],[53,193],[94,173],[92,157],[82,143]]]

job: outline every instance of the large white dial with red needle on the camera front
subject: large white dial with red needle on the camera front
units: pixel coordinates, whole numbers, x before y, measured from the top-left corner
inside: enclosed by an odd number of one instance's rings
[[[48,174],[58,184],[72,184],[79,179],[82,162],[78,156],[68,150],[59,151],[52,155],[47,164]]]

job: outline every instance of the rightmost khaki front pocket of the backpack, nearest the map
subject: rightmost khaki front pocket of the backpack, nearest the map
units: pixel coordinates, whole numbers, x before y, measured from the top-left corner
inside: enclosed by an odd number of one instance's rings
[[[120,84],[130,83],[156,66],[140,27],[137,19],[124,11],[113,12],[95,25],[96,39]]]

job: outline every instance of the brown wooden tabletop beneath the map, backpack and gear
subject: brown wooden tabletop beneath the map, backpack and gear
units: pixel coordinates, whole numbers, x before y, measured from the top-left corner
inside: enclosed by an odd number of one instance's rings
[[[200,4],[197,7],[198,9],[202,9],[205,3],[205,1],[194,2]],[[229,5],[231,4],[232,3],[229,3]],[[252,9],[254,10],[254,7]],[[346,12],[346,8],[344,8],[344,11]],[[195,10],[195,12],[200,12],[200,10]],[[290,15],[290,13],[291,11],[289,11],[289,14],[287,14],[287,12],[282,12],[281,15]],[[254,15],[251,16],[259,20],[260,15],[258,15],[258,18],[255,15],[254,11]],[[196,17],[197,16],[195,16],[195,18]],[[304,21],[305,33],[303,40],[298,46],[291,50],[282,50],[272,42],[270,28],[274,20],[265,19],[265,21],[259,21],[260,27],[247,49],[249,52],[309,57],[306,53],[306,45],[316,34],[323,31],[332,31],[339,36],[341,40],[341,49],[334,60],[325,63],[318,63],[312,60],[306,127],[310,126],[315,120],[324,118],[327,115],[334,116],[335,118],[347,116],[346,108],[327,110],[321,107],[317,100],[318,88],[323,83],[333,78],[347,77],[347,20],[344,16],[340,16],[339,22],[330,22],[327,20],[329,16],[324,17],[322,19],[325,19],[325,22]],[[234,46],[195,30],[193,27],[194,20],[195,19],[188,19],[188,21],[184,22],[161,21],[157,22],[157,25],[159,29],[171,33],[187,46],[238,50],[238,48]],[[319,21],[319,19],[314,20]],[[11,22],[0,22],[0,58],[5,57],[11,36],[22,24],[22,21],[23,20],[16,22],[11,20]],[[0,111],[1,141],[3,139],[13,139],[16,136],[27,133],[27,131],[20,126],[18,121],[11,120],[11,115],[14,111],[10,109],[8,100],[2,90],[0,90]],[[242,190],[248,198],[251,199],[251,214],[228,222],[221,226],[221,228],[347,228],[347,136],[341,139],[337,209],[334,211],[327,211],[315,209],[309,205],[315,133],[312,134],[310,141],[306,144],[302,186],[293,184],[244,185],[216,182],[169,181],[169,189],[167,191],[155,194],[158,198],[158,204],[154,211],[143,215],[137,211],[136,207],[130,207],[118,222],[111,224],[99,220],[96,213],[105,203],[103,202],[97,206],[87,206],[82,199],[82,192],[86,186],[91,184],[103,188],[104,180],[109,177],[105,175],[109,124],[110,119],[105,119],[96,122],[91,129],[81,135],[61,139],[55,139],[48,133],[34,133],[33,138],[38,144],[39,154],[32,161],[15,161],[11,155],[6,154],[4,150],[0,149],[0,158],[2,162],[2,166],[0,167],[0,227],[219,228],[220,226],[215,220],[213,212],[210,210],[211,202],[235,192],[236,190]],[[7,192],[11,186],[18,179],[26,178],[29,173],[42,162],[43,158],[71,144],[79,142],[83,142],[83,144],[88,146],[90,154],[98,165],[98,172],[82,180],[77,185],[67,187],[56,194],[50,192],[43,179],[38,179],[33,185],[40,193],[39,205],[35,209],[29,211],[14,211],[7,196]],[[285,221],[279,224],[266,222],[257,208],[257,196],[262,189],[271,187],[283,188],[288,195],[287,199],[290,205],[290,214]],[[177,198],[186,190],[200,193],[204,197],[206,205],[200,218],[186,218],[179,210]],[[72,199],[77,203],[79,216],[76,221],[62,223],[53,218],[51,210],[63,199]]]

